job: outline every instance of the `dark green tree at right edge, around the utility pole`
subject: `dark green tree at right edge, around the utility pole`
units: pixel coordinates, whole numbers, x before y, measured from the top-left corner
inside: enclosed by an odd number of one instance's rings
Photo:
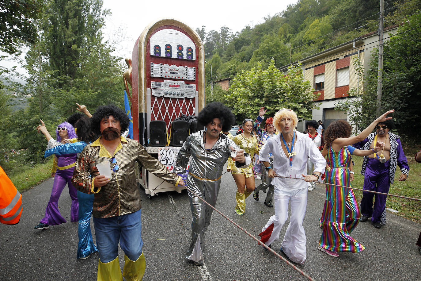
[[[421,107],[421,15],[408,17],[397,29],[397,34],[384,45],[383,89],[381,111],[394,109],[393,119],[399,134],[419,139],[419,108]],[[377,50],[376,50],[377,51]],[[368,75],[365,99],[367,104],[376,102],[377,62],[376,51],[372,56],[372,70]],[[364,106],[363,113],[373,118],[375,106]]]

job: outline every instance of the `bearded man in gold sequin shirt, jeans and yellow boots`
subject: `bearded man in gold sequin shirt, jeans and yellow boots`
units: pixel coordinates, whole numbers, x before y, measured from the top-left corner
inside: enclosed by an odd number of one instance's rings
[[[117,257],[119,241],[125,252],[123,276],[126,280],[141,280],[145,258],[135,162],[173,185],[184,185],[184,182],[138,142],[121,136],[130,120],[120,108],[98,107],[91,122],[92,131],[101,137],[80,154],[72,183],[77,190],[95,196],[92,213],[99,251],[98,280],[123,280]],[[111,178],[99,175],[96,165],[104,161],[110,163]]]

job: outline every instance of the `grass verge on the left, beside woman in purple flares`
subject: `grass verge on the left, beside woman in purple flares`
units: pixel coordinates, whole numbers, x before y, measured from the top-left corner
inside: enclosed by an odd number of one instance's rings
[[[28,169],[24,169],[20,173],[17,173],[10,177],[11,181],[19,190],[19,192],[28,190],[35,185],[40,184],[45,179],[51,177],[51,168],[53,167],[53,157],[48,162],[37,164]]]

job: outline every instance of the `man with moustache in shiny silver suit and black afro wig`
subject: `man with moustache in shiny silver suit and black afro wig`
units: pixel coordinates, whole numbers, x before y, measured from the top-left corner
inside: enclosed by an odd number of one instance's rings
[[[192,241],[186,258],[195,265],[203,265],[205,231],[213,209],[200,198],[215,206],[224,164],[229,156],[232,156],[235,165],[240,168],[248,166],[251,159],[231,139],[221,134],[221,131],[229,131],[235,121],[228,107],[220,102],[212,102],[199,113],[197,121],[206,130],[187,137],[177,156],[174,172],[181,174],[186,171],[190,159],[187,187],[192,209]]]

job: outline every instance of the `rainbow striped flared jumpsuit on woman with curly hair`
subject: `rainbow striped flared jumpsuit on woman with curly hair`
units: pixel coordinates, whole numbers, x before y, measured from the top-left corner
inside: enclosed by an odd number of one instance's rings
[[[326,171],[326,182],[335,185],[351,186],[349,165],[351,153],[346,147],[339,152],[329,148],[327,163],[331,170]],[[350,236],[360,222],[360,208],[354,191],[345,187],[326,185],[326,202],[321,218],[323,227],[319,246],[335,252],[357,253],[365,249]]]

